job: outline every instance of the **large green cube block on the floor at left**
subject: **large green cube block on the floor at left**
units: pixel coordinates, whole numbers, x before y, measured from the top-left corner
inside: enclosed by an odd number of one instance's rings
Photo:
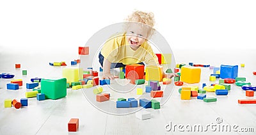
[[[45,94],[45,99],[60,99],[67,95],[67,79],[42,79],[41,93]]]

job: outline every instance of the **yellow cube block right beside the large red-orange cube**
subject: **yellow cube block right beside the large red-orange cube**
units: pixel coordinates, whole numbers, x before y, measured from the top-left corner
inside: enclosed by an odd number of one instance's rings
[[[163,67],[162,66],[147,66],[146,67],[146,81],[162,81],[163,80]]]

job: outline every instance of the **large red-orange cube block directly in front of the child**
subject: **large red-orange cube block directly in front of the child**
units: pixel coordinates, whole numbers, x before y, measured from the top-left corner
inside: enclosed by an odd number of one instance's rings
[[[136,79],[143,79],[144,75],[144,65],[132,64],[126,65],[125,67],[125,77],[131,79],[135,83]]]

